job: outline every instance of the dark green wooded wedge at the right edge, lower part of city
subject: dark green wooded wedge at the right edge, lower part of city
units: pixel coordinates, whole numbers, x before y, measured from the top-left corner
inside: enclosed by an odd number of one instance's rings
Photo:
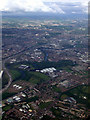
[[[61,100],[67,97],[73,97],[78,103],[90,108],[90,85],[81,85],[60,95]]]

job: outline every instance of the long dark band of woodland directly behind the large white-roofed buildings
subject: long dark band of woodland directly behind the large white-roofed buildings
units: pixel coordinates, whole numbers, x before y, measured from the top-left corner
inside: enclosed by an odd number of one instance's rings
[[[61,60],[58,62],[50,62],[50,61],[43,61],[43,62],[20,62],[20,63],[6,63],[6,67],[8,69],[17,69],[20,70],[18,67],[22,64],[28,65],[30,67],[30,70],[41,70],[44,68],[49,68],[49,67],[55,67],[57,70],[63,69],[66,67],[72,67],[77,65],[75,62],[71,60]]]

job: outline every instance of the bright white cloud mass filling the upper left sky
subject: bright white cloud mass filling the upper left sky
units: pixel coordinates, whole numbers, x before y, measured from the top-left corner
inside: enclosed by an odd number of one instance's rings
[[[61,10],[58,6],[53,5],[53,7],[49,7],[48,5],[45,5],[42,0],[3,0],[2,4],[0,4],[0,11],[18,11],[18,10],[31,11],[31,12],[59,11],[61,13],[64,13],[63,10]]]

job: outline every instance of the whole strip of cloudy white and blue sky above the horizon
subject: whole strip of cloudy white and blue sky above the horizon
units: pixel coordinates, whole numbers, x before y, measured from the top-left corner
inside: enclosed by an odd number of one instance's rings
[[[89,0],[0,0],[0,11],[50,12],[88,12]]]

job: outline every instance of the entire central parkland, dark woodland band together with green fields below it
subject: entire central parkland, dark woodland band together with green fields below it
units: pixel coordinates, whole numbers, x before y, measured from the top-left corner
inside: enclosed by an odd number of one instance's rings
[[[23,70],[19,69],[19,66],[25,64],[28,65],[29,71],[28,70]],[[13,81],[16,80],[25,80],[29,81],[32,84],[37,84],[46,80],[49,80],[50,78],[42,73],[35,72],[35,70],[41,70],[44,68],[49,68],[49,67],[55,67],[57,70],[63,69],[65,67],[72,67],[75,66],[76,63],[70,60],[61,60],[59,62],[20,62],[20,63],[6,63],[6,67],[8,68],[10,74],[12,75]],[[56,90],[59,91],[59,90]]]

